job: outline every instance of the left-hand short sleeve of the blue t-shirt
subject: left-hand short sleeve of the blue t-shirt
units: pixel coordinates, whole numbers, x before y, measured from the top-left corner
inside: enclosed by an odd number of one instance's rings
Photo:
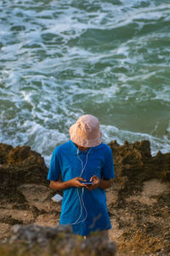
[[[57,148],[55,148],[52,154],[51,162],[49,166],[48,180],[58,180],[59,176],[60,176],[59,152]]]

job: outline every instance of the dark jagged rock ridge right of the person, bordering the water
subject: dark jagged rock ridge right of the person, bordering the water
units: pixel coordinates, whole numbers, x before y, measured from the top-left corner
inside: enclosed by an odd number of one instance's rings
[[[119,204],[124,202],[127,195],[141,191],[146,180],[157,178],[161,182],[170,182],[170,154],[158,152],[152,157],[149,141],[125,142],[124,145],[113,141],[109,146],[114,158]]]

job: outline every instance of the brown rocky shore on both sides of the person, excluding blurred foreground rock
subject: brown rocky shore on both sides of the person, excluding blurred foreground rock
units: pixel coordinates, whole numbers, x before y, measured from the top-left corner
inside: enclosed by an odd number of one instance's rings
[[[116,178],[106,193],[117,255],[170,255],[170,154],[152,156],[148,141],[109,145]],[[49,189],[47,173],[31,148],[0,144],[2,244],[14,224],[58,224],[60,202],[51,200],[56,191]]]

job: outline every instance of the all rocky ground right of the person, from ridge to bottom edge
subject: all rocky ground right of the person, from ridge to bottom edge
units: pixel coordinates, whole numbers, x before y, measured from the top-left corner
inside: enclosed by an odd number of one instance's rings
[[[111,142],[116,179],[109,195],[112,237],[137,255],[170,253],[170,154],[150,154],[148,141]],[[111,199],[114,199],[111,201]],[[114,236],[114,228],[118,236]],[[162,254],[161,254],[162,253]],[[155,254],[154,254],[155,255]]]

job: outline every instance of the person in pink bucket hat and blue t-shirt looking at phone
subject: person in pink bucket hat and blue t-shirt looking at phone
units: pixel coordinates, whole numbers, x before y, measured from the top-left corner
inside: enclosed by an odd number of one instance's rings
[[[105,189],[115,177],[111,148],[101,143],[99,119],[90,114],[71,125],[70,136],[54,149],[48,171],[50,188],[63,190],[59,224],[71,224],[81,236],[99,231],[109,238]]]

